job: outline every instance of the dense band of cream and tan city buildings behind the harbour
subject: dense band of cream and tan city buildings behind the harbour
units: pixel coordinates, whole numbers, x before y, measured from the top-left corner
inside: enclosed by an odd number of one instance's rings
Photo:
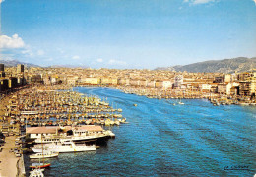
[[[26,85],[104,86],[150,98],[218,98],[224,103],[255,103],[256,71],[244,73],[188,73],[159,70],[82,68],[4,68],[2,93]],[[230,99],[230,101],[227,100]]]

